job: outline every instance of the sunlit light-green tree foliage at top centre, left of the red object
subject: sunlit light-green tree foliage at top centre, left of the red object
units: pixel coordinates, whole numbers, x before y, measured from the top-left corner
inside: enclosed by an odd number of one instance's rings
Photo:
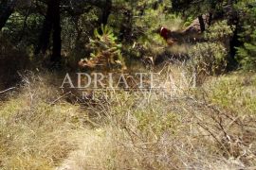
[[[119,34],[123,44],[122,51],[130,59],[155,58],[167,47],[167,43],[159,35],[160,27],[177,30],[184,26],[181,16],[171,12],[170,0],[119,0],[113,4],[119,10],[113,11],[109,25]]]

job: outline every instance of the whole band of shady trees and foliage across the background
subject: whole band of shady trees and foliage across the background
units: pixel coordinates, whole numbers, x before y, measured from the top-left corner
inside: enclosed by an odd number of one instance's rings
[[[99,53],[90,48],[90,40],[95,39],[95,30],[104,34],[101,26],[105,25],[113,30],[112,39],[121,45],[124,60],[163,58],[166,52],[177,52],[168,49],[159,36],[160,27],[186,32],[196,18],[199,27],[193,25],[190,29],[206,35],[201,42],[222,43],[227,49],[222,58],[229,62],[229,69],[253,70],[255,64],[255,2],[250,0],[3,0],[0,18],[1,45],[11,43],[32,65],[44,62],[44,66],[75,69],[80,59],[89,59],[95,51]],[[192,34],[186,33],[180,36]],[[180,36],[175,41],[180,41]]]

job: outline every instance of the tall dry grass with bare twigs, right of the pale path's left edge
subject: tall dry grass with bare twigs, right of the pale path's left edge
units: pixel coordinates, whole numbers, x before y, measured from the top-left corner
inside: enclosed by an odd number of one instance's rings
[[[179,69],[164,74],[178,79]],[[115,92],[105,104],[98,93],[97,128],[58,169],[255,168],[255,117],[214,105],[209,89],[178,87],[168,96]]]

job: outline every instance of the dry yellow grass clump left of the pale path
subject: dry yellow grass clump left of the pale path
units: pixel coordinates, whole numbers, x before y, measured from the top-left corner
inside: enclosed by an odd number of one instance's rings
[[[51,169],[76,146],[70,135],[81,127],[79,107],[65,102],[51,105],[57,89],[42,77],[29,76],[22,92],[1,103],[3,169]]]

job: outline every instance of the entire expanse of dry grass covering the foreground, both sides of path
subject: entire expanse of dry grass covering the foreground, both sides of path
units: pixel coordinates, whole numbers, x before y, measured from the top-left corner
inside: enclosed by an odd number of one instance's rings
[[[181,69],[173,67],[161,75],[179,79]],[[224,91],[219,86],[190,89],[181,84],[176,86],[180,91],[168,96],[159,92],[109,92],[113,97],[96,93],[93,105],[81,107],[64,100],[52,105],[61,93],[47,78],[33,79],[28,78],[24,92],[1,104],[3,169],[256,166],[255,117],[215,102],[210,92],[217,91],[214,87]]]

